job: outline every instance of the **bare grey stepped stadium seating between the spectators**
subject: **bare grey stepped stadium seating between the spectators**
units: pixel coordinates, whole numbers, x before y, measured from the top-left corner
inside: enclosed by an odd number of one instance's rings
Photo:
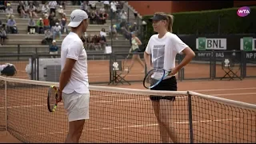
[[[42,4],[41,4],[42,5]],[[11,2],[11,6],[14,10],[14,19],[17,23],[18,27],[18,34],[8,34],[8,39],[6,39],[6,45],[2,46],[2,48],[6,48],[6,51],[8,50],[8,47],[17,47],[18,45],[21,45],[20,47],[48,47],[45,45],[42,45],[42,39],[44,38],[44,34],[27,34],[27,24],[29,21],[29,18],[20,18],[18,16],[17,12],[17,2]],[[79,9],[80,6],[70,6],[70,2],[67,2],[66,10],[64,10],[64,13],[66,13],[67,22],[70,22],[70,13],[72,10]],[[97,7],[100,8],[100,7]],[[42,17],[41,14],[38,14],[38,18]],[[0,13],[0,19],[2,20],[2,23],[6,23],[6,14]],[[37,19],[35,19],[37,20]],[[113,22],[116,22],[115,20]],[[108,32],[110,27],[110,20],[106,21],[105,25],[90,25],[87,29],[87,34],[99,34],[99,31],[102,30],[102,28],[105,28],[106,32]],[[57,44],[60,45],[62,42],[62,39],[66,37],[66,34],[62,34],[61,39],[57,39]],[[107,44],[111,45],[111,39],[110,36],[106,37]],[[118,40],[113,38],[112,41],[113,51],[128,51],[130,49],[130,42],[125,40],[121,34],[118,34]],[[1,47],[0,47],[1,48]],[[3,50],[1,50],[3,51]]]

